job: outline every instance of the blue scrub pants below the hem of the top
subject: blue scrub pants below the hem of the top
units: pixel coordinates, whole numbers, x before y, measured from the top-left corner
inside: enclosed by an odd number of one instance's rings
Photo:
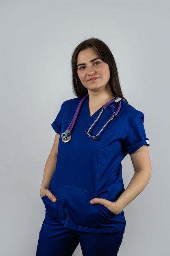
[[[71,256],[78,243],[83,256],[116,256],[124,231],[95,234],[65,228],[55,222],[44,222],[39,233],[36,256]]]

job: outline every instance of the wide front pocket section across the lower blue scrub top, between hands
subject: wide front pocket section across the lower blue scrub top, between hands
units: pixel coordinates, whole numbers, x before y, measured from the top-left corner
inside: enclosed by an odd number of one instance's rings
[[[75,230],[95,231],[123,226],[124,214],[112,213],[101,204],[90,204],[90,200],[96,198],[96,194],[85,189],[58,185],[56,193],[57,202],[43,197],[47,214],[52,219],[64,220],[65,227]],[[95,231],[96,232],[96,231]]]

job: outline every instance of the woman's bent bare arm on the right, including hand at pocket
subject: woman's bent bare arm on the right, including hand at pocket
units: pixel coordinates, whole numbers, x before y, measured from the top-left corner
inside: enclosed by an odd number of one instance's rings
[[[131,154],[131,160],[135,173],[118,200],[111,202],[103,198],[93,198],[90,200],[91,204],[102,204],[113,213],[118,214],[142,192],[148,184],[151,175],[148,146],[144,145]]]

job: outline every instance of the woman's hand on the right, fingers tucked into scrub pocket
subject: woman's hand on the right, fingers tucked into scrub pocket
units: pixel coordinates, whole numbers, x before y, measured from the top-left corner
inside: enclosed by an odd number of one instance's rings
[[[102,204],[114,214],[119,214],[123,209],[120,209],[117,202],[111,202],[104,198],[93,198],[90,200],[90,204]]]

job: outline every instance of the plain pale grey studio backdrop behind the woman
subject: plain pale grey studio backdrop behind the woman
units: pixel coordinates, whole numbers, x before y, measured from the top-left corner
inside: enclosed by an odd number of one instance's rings
[[[124,210],[118,255],[170,255],[169,25],[169,0],[0,0],[0,255],[35,256],[51,123],[75,97],[71,54],[89,37],[110,47],[124,96],[144,112],[150,139],[152,177]],[[132,175],[127,156],[125,187]],[[81,255],[78,246],[74,256]]]

